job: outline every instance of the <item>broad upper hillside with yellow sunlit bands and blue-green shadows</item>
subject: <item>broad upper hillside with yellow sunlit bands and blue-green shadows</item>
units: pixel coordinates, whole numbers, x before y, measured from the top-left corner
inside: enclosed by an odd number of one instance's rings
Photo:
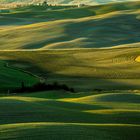
[[[139,8],[136,2],[51,11],[15,9],[1,14],[1,25],[13,26],[0,30],[0,49],[139,46]]]

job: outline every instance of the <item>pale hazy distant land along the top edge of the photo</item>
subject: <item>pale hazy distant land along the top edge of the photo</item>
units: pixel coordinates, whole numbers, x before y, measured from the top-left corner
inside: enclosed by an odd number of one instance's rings
[[[1,0],[0,4],[7,4],[7,3],[39,3],[44,0]],[[126,2],[126,1],[137,1],[137,0],[48,0],[49,3],[54,4],[105,4],[109,2]]]

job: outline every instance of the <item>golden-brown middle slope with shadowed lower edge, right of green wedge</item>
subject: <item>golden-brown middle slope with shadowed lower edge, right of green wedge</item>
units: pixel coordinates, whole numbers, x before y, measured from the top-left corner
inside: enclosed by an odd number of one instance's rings
[[[139,48],[1,51],[10,64],[79,90],[138,89]],[[100,55],[99,55],[100,54]],[[24,62],[24,63],[23,63]],[[128,69],[129,68],[129,69]],[[86,83],[86,84],[85,84]]]

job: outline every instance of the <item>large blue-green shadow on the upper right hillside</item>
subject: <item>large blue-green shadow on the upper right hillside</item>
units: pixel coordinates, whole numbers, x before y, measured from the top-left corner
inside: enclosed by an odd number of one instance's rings
[[[70,40],[86,38],[84,42],[87,44],[86,48],[112,47],[140,42],[139,20],[136,16],[135,14],[120,14],[104,19],[71,23],[65,26],[65,34]]]

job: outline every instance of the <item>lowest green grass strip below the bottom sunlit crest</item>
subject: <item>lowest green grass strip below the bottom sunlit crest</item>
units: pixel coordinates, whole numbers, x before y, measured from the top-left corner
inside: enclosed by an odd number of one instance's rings
[[[6,129],[11,131],[5,137]],[[29,123],[29,124],[17,124],[17,125],[8,125],[2,126],[1,130],[2,139],[13,138],[13,139],[34,139],[34,140],[43,140],[43,139],[58,139],[67,140],[79,139],[79,140],[91,140],[97,138],[97,140],[103,139],[133,139],[138,140],[139,126],[133,125],[91,125],[91,124],[66,124],[66,123]],[[7,131],[8,131],[7,130]],[[127,130],[127,131],[126,131]],[[109,132],[110,134],[106,134]],[[63,134],[65,132],[65,134]],[[84,134],[83,134],[84,132]],[[128,133],[128,132],[131,132]],[[124,136],[124,133],[126,134]],[[34,135],[32,135],[34,134]],[[119,135],[118,135],[119,134]],[[16,135],[16,136],[15,136]],[[63,135],[63,136],[62,136]],[[113,135],[113,137],[111,137]],[[123,138],[122,138],[123,136]]]

